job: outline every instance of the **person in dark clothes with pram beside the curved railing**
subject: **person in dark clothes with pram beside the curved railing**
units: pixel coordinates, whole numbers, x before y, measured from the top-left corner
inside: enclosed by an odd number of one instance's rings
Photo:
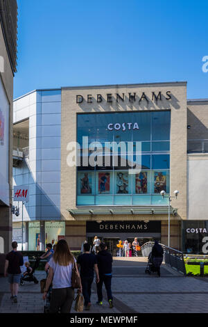
[[[152,248],[152,252],[148,255],[148,266],[146,267],[146,273],[155,272],[160,277],[160,266],[163,261],[164,250],[158,241]]]

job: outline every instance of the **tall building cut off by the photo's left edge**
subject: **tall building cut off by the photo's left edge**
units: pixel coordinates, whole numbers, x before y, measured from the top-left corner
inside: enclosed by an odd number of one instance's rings
[[[12,115],[16,67],[17,1],[0,0],[0,253],[7,253],[12,243]]]

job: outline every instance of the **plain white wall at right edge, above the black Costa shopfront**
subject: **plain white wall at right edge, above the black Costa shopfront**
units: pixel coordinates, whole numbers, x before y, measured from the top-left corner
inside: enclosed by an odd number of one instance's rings
[[[208,220],[208,155],[188,156],[188,219]]]

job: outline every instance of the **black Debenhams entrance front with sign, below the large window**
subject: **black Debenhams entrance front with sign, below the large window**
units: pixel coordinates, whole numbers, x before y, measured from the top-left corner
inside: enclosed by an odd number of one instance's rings
[[[127,240],[129,243],[137,237],[139,245],[148,241],[161,240],[161,221],[87,221],[87,241],[93,244],[97,236],[107,244],[107,248],[116,256],[118,248],[116,244]]]

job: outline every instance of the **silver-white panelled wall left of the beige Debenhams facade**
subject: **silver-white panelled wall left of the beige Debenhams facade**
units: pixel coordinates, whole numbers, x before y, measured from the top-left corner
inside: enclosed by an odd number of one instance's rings
[[[14,102],[14,122],[29,118],[29,158],[13,168],[13,184],[29,185],[24,221],[60,220],[61,90],[41,90]],[[14,202],[17,205],[17,202]],[[13,222],[21,221],[13,215]]]

